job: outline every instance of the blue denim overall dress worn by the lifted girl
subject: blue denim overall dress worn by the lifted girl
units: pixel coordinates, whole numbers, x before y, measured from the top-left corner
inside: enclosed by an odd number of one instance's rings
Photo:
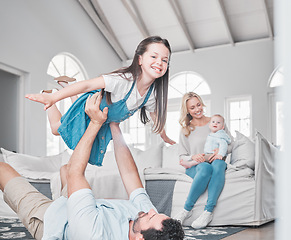
[[[100,109],[103,110],[104,107],[108,107],[107,120],[103,123],[96,139],[94,140],[89,163],[102,166],[107,145],[112,139],[109,123],[124,121],[132,116],[138,109],[142,108],[148,101],[153,90],[153,84],[151,85],[143,103],[137,109],[128,110],[126,100],[130,96],[135,82],[136,81],[133,81],[129,92],[126,94],[124,99],[110,105],[107,104],[106,92],[104,93],[100,104]],[[58,132],[70,149],[75,149],[90,123],[90,118],[85,113],[86,100],[89,95],[93,95],[97,91],[99,92],[100,89],[83,94],[73,103],[73,105],[61,118],[61,126],[58,128]]]

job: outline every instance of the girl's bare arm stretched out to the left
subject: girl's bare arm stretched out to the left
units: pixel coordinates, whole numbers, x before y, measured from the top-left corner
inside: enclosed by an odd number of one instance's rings
[[[47,110],[62,99],[101,88],[105,88],[105,82],[102,76],[74,83],[52,94],[27,94],[25,97],[44,104],[44,110]]]

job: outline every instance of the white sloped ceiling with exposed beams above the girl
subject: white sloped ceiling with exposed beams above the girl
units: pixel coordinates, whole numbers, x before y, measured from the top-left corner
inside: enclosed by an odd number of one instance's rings
[[[273,0],[79,0],[122,61],[151,35],[173,53],[273,39]]]

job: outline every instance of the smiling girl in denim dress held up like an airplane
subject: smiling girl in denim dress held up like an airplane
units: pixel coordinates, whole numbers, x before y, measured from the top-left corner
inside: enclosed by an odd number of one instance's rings
[[[146,111],[154,121],[153,130],[170,144],[164,131],[167,114],[169,60],[171,48],[166,39],[152,36],[137,46],[132,64],[110,74],[81,81],[64,87],[52,94],[28,94],[26,98],[40,102],[47,110],[61,99],[85,93],[61,116],[55,105],[48,113],[52,132],[60,134],[69,148],[75,149],[83,136],[90,119],[85,114],[88,96],[102,90],[100,109],[108,107],[108,118],[100,129],[90,155],[89,163],[101,166],[109,141],[110,122],[121,122],[141,109],[142,123],[149,121]],[[57,131],[56,131],[57,129]]]

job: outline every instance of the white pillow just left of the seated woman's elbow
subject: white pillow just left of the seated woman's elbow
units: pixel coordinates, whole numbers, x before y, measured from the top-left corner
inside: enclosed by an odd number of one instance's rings
[[[178,172],[185,173],[185,168],[179,164],[179,145],[174,144],[169,147],[163,147],[163,168],[175,169]]]

